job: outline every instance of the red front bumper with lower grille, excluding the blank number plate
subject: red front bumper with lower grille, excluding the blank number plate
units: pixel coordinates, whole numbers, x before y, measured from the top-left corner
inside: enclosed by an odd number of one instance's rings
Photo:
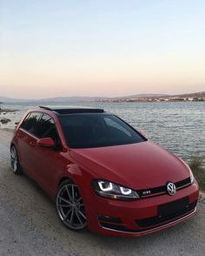
[[[140,236],[174,226],[195,215],[199,188],[193,185],[176,192],[175,196],[163,194],[136,201],[104,199],[93,195],[92,204],[87,208],[88,227],[92,232],[109,235]],[[92,197],[93,198],[93,197]],[[180,199],[188,199],[187,209],[169,218],[160,219],[159,205]]]

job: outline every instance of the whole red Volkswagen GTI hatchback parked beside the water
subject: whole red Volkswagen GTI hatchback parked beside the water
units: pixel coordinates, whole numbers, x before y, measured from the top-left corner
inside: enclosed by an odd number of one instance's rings
[[[28,111],[10,158],[14,173],[56,200],[73,230],[139,236],[196,212],[199,188],[188,165],[101,109]]]

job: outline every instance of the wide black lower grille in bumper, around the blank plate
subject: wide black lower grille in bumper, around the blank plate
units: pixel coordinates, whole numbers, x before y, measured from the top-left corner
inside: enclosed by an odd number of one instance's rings
[[[149,219],[137,219],[137,226],[148,227],[167,223],[193,211],[197,201],[186,204],[186,200],[187,198],[176,200],[169,204],[160,205],[158,208],[158,216]]]

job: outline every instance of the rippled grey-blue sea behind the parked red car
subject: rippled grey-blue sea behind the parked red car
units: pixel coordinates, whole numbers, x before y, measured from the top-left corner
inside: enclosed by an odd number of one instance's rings
[[[54,104],[45,104],[54,106]],[[1,104],[2,108],[19,110],[16,113],[1,114],[10,118],[8,125],[14,128],[23,113],[35,104]],[[205,157],[205,102],[159,102],[159,103],[82,103],[55,104],[55,106],[100,107],[119,115],[145,137],[168,148],[169,151],[188,160],[200,153]]]

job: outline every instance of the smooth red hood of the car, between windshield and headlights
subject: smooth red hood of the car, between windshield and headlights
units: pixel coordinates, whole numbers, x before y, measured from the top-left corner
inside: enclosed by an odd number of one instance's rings
[[[89,149],[70,149],[70,155],[95,179],[107,179],[133,189],[177,182],[189,177],[180,158],[159,145],[145,141]]]

